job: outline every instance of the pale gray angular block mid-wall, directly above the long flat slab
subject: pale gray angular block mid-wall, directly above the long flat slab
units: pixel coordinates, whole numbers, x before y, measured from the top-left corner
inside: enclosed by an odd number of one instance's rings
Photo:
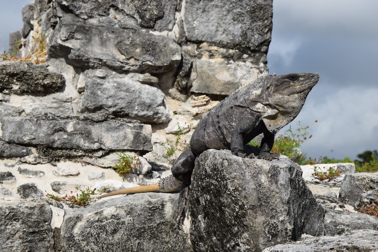
[[[141,84],[134,79],[138,76],[133,78],[105,70],[88,70],[82,75],[85,90],[80,112],[106,113],[147,123],[170,120],[164,93],[156,87]]]

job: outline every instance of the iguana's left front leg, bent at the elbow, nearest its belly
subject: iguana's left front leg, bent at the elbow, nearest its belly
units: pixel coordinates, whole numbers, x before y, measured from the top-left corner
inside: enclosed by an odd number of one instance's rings
[[[241,120],[231,132],[230,149],[232,154],[238,157],[245,157],[244,153],[244,137],[248,135],[255,126],[261,121],[258,115],[247,115]]]

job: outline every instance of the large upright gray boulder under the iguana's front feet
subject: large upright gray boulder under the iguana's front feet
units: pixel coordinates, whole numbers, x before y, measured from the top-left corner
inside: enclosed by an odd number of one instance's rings
[[[324,208],[300,166],[282,155],[267,161],[229,150],[202,152],[192,174],[189,214],[198,251],[260,251],[303,233],[324,235]]]

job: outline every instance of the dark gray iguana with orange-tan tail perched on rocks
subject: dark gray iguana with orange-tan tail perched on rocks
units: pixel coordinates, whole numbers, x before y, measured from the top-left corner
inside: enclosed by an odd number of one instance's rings
[[[190,141],[190,147],[172,165],[172,175],[153,185],[127,188],[99,196],[170,192],[181,188],[177,218],[183,213],[189,196],[189,185],[196,156],[207,149],[230,149],[245,158],[243,146],[263,133],[258,159],[279,159],[271,154],[274,135],[296,118],[308,93],[319,80],[317,73],[290,73],[268,75],[264,72],[246,81],[243,86],[206,112],[199,121]],[[250,154],[246,158],[255,158]]]

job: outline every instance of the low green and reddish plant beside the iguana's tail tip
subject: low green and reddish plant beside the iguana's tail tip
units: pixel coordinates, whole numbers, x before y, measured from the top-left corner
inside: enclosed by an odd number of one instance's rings
[[[50,193],[46,194],[46,196],[56,201],[72,202],[75,205],[82,206],[91,202],[91,195],[102,194],[105,190],[105,188],[102,190],[97,190],[99,193],[95,193],[96,188],[91,190],[89,187],[87,187],[84,190],[82,190],[81,185],[78,187],[75,187],[75,189],[76,191],[74,192],[71,191],[71,195],[66,194],[64,197],[55,196],[54,194],[50,194]],[[76,193],[77,191],[79,193]],[[74,193],[76,193],[76,196]]]

